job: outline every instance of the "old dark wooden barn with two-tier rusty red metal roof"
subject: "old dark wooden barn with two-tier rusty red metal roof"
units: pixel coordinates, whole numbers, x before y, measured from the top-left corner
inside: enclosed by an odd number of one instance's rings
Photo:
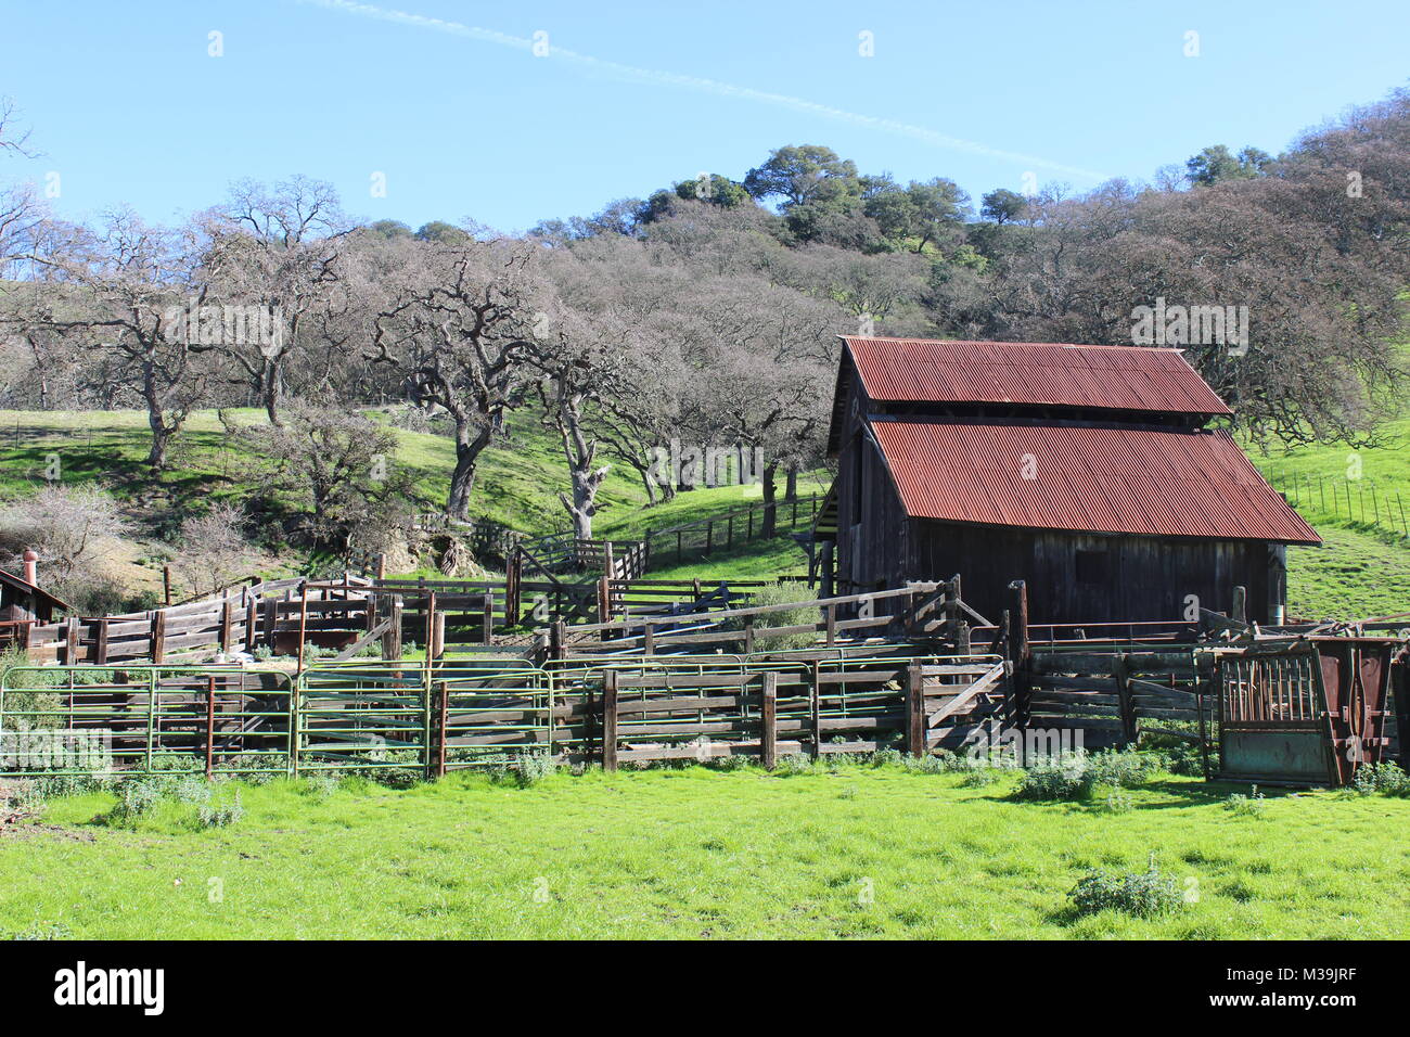
[[[1166,347],[842,336],[819,521],[838,594],[942,580],[987,617],[1280,619],[1287,545],[1321,540]],[[830,559],[828,556],[832,556]]]

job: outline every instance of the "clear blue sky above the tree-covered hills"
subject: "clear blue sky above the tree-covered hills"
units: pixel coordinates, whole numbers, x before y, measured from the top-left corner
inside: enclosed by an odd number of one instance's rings
[[[1083,190],[1207,144],[1276,154],[1410,78],[1404,0],[0,0],[0,32],[42,152],[0,178],[58,172],[70,219],[176,220],[298,172],[355,216],[516,231],[802,142],[976,199],[1025,172]]]

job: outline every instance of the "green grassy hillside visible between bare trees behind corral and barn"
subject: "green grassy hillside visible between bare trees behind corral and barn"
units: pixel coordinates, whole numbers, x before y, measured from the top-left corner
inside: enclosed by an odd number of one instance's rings
[[[259,425],[264,413],[241,409],[243,425]],[[382,420],[392,409],[374,409]],[[398,429],[396,464],[410,473],[412,504],[436,512],[443,505],[447,471],[454,463],[448,437],[436,432]],[[1410,540],[1394,526],[1403,501],[1410,507],[1410,419],[1385,429],[1385,443],[1351,451],[1342,446],[1251,450],[1253,463],[1313,522],[1324,547],[1294,547],[1289,557],[1289,608],[1316,618],[1356,618],[1410,610]],[[168,538],[183,515],[210,501],[244,501],[251,494],[251,473],[265,466],[250,450],[227,442],[213,411],[190,416],[173,454],[173,470],[152,481],[142,464],[147,453],[145,415],[138,411],[30,412],[0,411],[0,497],[32,492],[45,467],[55,459],[66,483],[109,485],[138,529],[138,545],[121,562],[131,581],[159,583],[157,542]],[[1348,480],[1348,471],[1358,478]],[[799,481],[799,494],[821,492],[826,473]],[[1318,484],[1318,480],[1321,483]],[[1335,490],[1334,490],[1335,487]],[[1352,514],[1345,505],[1352,494]],[[1318,488],[1321,492],[1318,492]],[[567,515],[557,499],[568,490],[561,453],[553,436],[537,422],[515,416],[508,436],[484,454],[472,512],[532,533],[565,529]],[[1361,501],[1375,494],[1380,521],[1361,518]],[[1399,497],[1397,497],[1399,495]],[[740,508],[759,499],[757,487],[699,488],[647,508],[646,490],[634,473],[615,466],[603,484],[595,532],[612,539],[639,539],[658,530]],[[1323,501],[1327,505],[1323,505]],[[1334,505],[1332,501],[1340,501]],[[1369,507],[1369,505],[1368,505]],[[293,559],[268,556],[262,564],[278,570]],[[670,554],[658,557],[653,574],[661,577],[767,577],[807,571],[802,550],[790,536],[737,545],[709,559]]]

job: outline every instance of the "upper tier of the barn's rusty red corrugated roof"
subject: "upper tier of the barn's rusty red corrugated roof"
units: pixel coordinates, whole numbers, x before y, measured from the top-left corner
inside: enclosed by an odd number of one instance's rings
[[[1173,348],[840,337],[877,401],[1232,413]]]

